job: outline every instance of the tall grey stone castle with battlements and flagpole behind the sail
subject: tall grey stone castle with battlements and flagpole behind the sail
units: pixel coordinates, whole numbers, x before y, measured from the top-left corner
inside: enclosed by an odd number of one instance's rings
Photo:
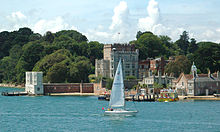
[[[122,59],[124,78],[135,76],[138,78],[138,49],[130,44],[105,44],[103,49],[104,59],[96,60],[96,76],[113,78],[119,59]]]

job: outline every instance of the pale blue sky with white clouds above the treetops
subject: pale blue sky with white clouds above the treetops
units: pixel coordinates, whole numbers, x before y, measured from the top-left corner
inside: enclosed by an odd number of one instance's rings
[[[128,43],[138,31],[183,31],[197,42],[220,43],[220,0],[0,0],[0,31],[29,27],[44,35],[77,30],[89,41]]]

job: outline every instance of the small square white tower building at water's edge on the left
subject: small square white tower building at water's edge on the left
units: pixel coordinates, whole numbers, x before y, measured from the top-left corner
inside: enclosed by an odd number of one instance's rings
[[[25,91],[28,94],[42,95],[43,89],[43,73],[42,72],[26,72]]]

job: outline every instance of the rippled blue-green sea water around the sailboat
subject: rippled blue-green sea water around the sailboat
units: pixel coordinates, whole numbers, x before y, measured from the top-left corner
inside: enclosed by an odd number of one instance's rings
[[[220,101],[126,102],[136,116],[104,116],[103,107],[96,96],[0,95],[0,131],[220,131]]]

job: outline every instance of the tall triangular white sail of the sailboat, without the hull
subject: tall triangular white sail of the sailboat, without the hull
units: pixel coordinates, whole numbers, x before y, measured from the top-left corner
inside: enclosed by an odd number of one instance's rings
[[[123,82],[122,64],[120,59],[115,73],[114,82],[112,85],[112,92],[111,92],[109,106],[123,107],[124,105],[125,105],[124,82]]]

